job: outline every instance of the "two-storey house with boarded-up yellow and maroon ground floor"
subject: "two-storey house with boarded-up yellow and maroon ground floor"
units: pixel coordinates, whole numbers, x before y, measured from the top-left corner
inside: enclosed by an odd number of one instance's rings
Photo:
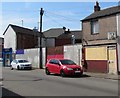
[[[120,72],[120,6],[101,10],[82,20],[83,66],[90,72]]]

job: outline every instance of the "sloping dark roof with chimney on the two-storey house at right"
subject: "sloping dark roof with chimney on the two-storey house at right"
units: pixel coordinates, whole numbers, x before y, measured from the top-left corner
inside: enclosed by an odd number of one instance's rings
[[[101,18],[101,17],[105,17],[105,16],[115,15],[118,13],[120,13],[120,6],[114,6],[114,7],[110,7],[107,9],[100,10],[100,11],[96,11],[96,12],[92,13],[91,15],[89,15],[88,17],[84,18],[82,21],[87,21],[87,20],[91,20],[91,19],[95,19],[95,18]]]

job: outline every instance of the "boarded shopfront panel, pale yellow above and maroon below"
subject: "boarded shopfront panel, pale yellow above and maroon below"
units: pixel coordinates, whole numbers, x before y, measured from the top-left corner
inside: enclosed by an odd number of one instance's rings
[[[107,73],[107,47],[87,47],[85,54],[87,71]]]

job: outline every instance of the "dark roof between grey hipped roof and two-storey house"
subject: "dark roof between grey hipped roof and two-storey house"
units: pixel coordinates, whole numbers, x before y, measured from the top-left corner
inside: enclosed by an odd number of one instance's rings
[[[82,31],[70,31],[69,33],[63,33],[60,36],[58,36],[58,39],[65,39],[65,38],[71,38],[71,36],[74,35],[75,39],[82,39]]]

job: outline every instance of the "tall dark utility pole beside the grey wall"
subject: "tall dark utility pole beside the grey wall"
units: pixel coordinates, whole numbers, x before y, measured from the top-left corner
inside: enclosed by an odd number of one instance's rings
[[[42,69],[42,16],[43,16],[43,8],[40,10],[40,38],[39,38],[39,68]]]

